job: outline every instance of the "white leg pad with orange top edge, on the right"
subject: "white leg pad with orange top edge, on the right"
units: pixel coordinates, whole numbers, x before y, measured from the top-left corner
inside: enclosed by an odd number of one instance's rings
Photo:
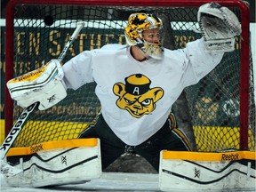
[[[252,167],[250,161],[244,160],[243,164],[236,161],[241,156],[239,152],[228,153],[228,155],[220,153],[219,161],[216,159],[211,161],[212,153],[208,153],[209,160],[200,160],[200,155],[207,156],[207,153],[196,153],[197,160],[185,158],[181,160],[182,152],[178,153],[180,154],[176,155],[177,158],[170,159],[163,157],[163,151],[161,152],[159,188],[162,191],[234,191],[235,189],[255,191],[255,164]],[[193,152],[185,153],[189,158],[189,153]],[[180,159],[178,159],[179,156]],[[230,161],[232,156],[235,161]]]

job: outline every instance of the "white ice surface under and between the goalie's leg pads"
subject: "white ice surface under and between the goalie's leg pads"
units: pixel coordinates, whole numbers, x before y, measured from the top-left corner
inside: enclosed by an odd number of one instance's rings
[[[12,188],[1,174],[1,192],[160,191],[158,174],[103,172],[98,180],[52,188]]]

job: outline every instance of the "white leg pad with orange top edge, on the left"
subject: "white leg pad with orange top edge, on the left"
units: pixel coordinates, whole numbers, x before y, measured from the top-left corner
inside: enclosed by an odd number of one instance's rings
[[[94,139],[79,139],[78,142],[86,143],[86,140]],[[26,162],[25,159],[29,156],[23,156],[20,164],[14,166],[23,172],[7,177],[7,183],[12,187],[38,188],[98,179],[102,173],[100,140],[95,140],[95,146],[64,148],[67,145],[64,143],[62,148],[38,151]],[[36,144],[29,150],[40,150],[45,145],[47,142]]]

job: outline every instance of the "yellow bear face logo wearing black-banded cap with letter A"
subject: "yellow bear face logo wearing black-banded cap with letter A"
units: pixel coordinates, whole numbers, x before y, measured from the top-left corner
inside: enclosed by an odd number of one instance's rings
[[[127,110],[132,116],[140,118],[156,108],[156,102],[164,96],[159,87],[150,89],[151,81],[147,76],[135,74],[125,78],[125,84],[116,83],[113,92],[118,96],[116,105]]]

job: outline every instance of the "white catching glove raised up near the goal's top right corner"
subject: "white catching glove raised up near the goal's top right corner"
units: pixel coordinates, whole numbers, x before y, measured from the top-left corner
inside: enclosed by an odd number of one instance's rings
[[[204,34],[206,52],[235,50],[235,37],[241,34],[241,25],[234,12],[212,2],[200,6],[197,21]]]

